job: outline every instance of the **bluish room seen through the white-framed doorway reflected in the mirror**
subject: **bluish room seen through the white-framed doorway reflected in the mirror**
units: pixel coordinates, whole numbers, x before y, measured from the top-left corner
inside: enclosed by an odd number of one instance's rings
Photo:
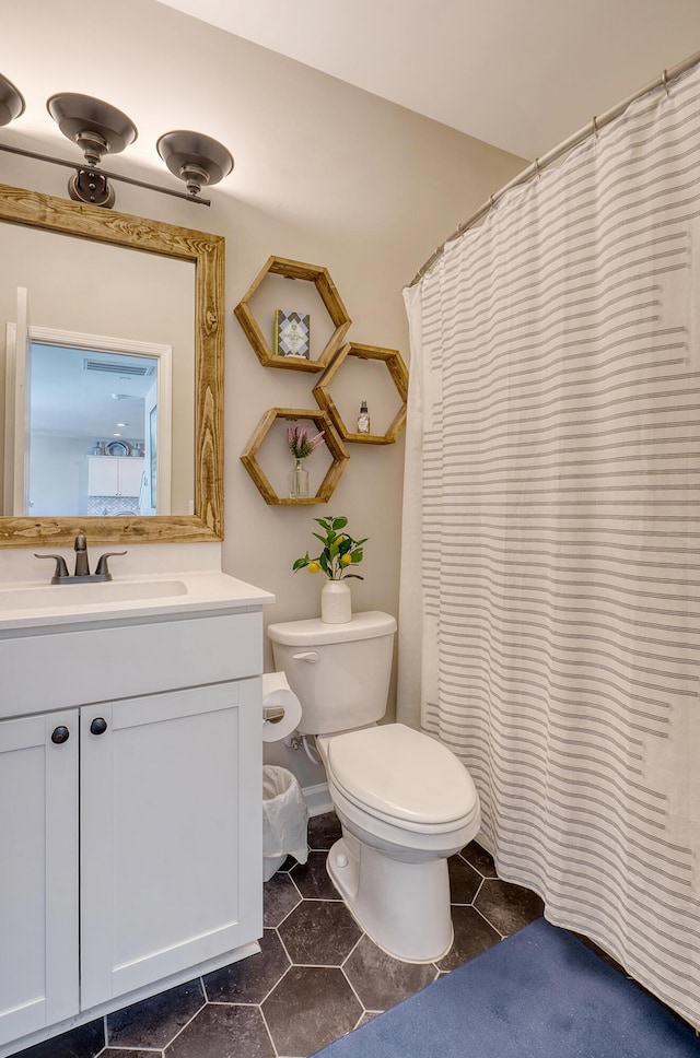
[[[13,513],[170,514],[170,346],[139,356],[78,337],[82,348],[32,340],[26,381],[15,378],[27,387],[28,423],[15,434],[14,468],[5,477],[22,475],[25,466],[28,475]],[[156,405],[158,444],[149,431]],[[152,455],[160,495],[155,474],[150,480]]]

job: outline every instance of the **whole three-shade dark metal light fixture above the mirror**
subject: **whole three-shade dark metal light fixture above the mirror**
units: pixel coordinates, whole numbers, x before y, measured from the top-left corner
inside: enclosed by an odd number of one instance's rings
[[[110,209],[115,193],[109,180],[121,180],[190,202],[210,205],[201,198],[202,187],[218,184],[233,169],[233,157],[226,148],[202,132],[166,132],[158,141],[158,152],[167,168],[187,187],[186,191],[136,180],[102,168],[105,155],[119,154],[136,140],[136,125],[117,107],[78,92],[59,92],[46,103],[59,129],[84,155],[84,163],[67,162],[33,151],[0,143],[0,151],[66,165],[75,171],[68,181],[68,193],[74,201]],[[9,125],[24,111],[24,99],[11,81],[0,74],[0,126]]]

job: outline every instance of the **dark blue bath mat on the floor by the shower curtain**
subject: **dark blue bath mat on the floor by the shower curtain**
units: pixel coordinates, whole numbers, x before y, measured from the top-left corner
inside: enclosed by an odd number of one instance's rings
[[[700,1058],[700,1039],[544,918],[374,1021],[324,1058]]]

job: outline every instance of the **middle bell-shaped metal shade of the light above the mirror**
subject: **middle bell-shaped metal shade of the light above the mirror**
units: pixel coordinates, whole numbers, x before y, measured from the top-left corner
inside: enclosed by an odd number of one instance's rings
[[[90,165],[98,165],[105,154],[119,154],[138,136],[126,114],[90,95],[59,92],[46,101],[46,106],[63,136],[78,144]]]

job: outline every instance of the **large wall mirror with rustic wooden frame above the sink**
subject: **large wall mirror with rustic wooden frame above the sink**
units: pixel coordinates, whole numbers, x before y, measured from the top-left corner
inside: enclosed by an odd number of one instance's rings
[[[85,489],[79,489],[74,512],[66,512],[61,506],[63,499],[57,494],[48,499],[48,509],[44,499],[39,508],[36,493],[27,497],[34,504],[27,513],[25,490],[18,499],[16,482],[3,482],[0,546],[70,545],[78,531],[95,540],[115,542],[220,540],[223,529],[223,239],[126,214],[106,215],[93,207],[2,185],[0,226],[3,240],[0,320],[8,325],[18,320],[16,304],[10,305],[10,296],[14,302],[16,286],[28,286],[31,334],[35,343],[30,364],[35,362],[38,371],[39,361],[45,356],[54,369],[62,361],[59,375],[67,373],[66,354],[57,354],[56,349],[72,346],[78,350],[73,355],[85,375],[82,362],[89,354],[95,361],[105,356],[119,368],[104,373],[120,383],[112,386],[109,393],[138,396],[143,402],[138,412],[130,411],[131,418],[126,413],[113,415],[104,425],[92,419],[90,424],[86,420],[80,427]],[[10,329],[7,328],[8,333]],[[2,353],[7,353],[2,349],[4,331],[5,327],[1,326],[0,385],[8,367],[1,363]],[[57,331],[68,332],[70,340],[57,338]],[[103,334],[110,338],[94,338]],[[170,399],[163,389],[165,360],[159,352],[168,345],[172,346]],[[125,379],[132,381],[133,375],[121,371],[126,361],[115,356],[125,356],[131,365],[141,358],[148,364],[150,356],[158,360],[152,413],[147,407],[151,398],[132,392]],[[4,446],[0,468],[11,467],[12,478],[21,477],[13,448],[16,446],[18,451],[22,448],[22,442],[16,443],[18,432],[28,436],[24,462],[28,491],[33,493],[32,451],[38,451],[42,445],[47,449],[58,448],[57,438],[65,426],[44,420],[42,427],[35,431],[32,425],[30,431],[27,411],[35,418],[39,409],[38,392],[28,407],[27,393],[39,385],[38,376],[33,387],[22,392],[8,371],[5,399],[0,398],[0,410],[9,407],[15,421],[11,426],[5,421],[0,436],[0,446]],[[95,371],[95,374],[98,373]],[[116,398],[107,399],[116,403]],[[96,404],[86,396],[82,402]],[[58,410],[68,405],[68,398],[60,393],[56,380],[50,384],[48,404]],[[132,428],[133,420],[138,420],[138,430]],[[156,421],[158,435],[151,443],[151,425]],[[128,422],[130,426],[116,427],[116,422]],[[49,432],[54,432],[52,440]],[[119,432],[125,433],[124,438],[114,436]],[[88,433],[89,439],[84,436]],[[102,458],[115,461],[109,463],[112,473],[120,459],[143,458],[147,480],[140,479],[142,489],[139,490],[143,495],[136,497],[136,503],[130,502],[126,510],[112,514],[104,502],[108,494],[101,494],[102,506],[95,513],[85,506],[85,499],[90,501],[86,462],[90,458],[100,458],[92,451],[100,442],[104,442],[106,450],[108,444],[121,440],[128,445],[129,452],[137,455]],[[172,452],[170,489],[168,447]],[[55,470],[51,473],[56,477]],[[129,496],[129,501],[133,498]],[[131,510],[137,514],[129,514]]]

